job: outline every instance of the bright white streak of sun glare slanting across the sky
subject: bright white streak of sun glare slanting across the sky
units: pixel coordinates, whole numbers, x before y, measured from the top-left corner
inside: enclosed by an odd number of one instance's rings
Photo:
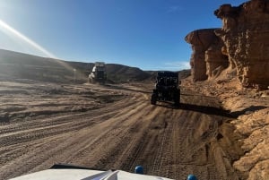
[[[13,29],[10,25],[5,23],[4,21],[0,20],[0,30],[8,30],[9,32],[13,33],[16,37],[22,39],[23,41],[27,42],[30,46],[35,47],[38,49],[40,52],[44,53],[46,56],[51,57],[51,58],[56,58],[52,53],[48,52],[47,49],[44,47],[41,47],[38,43],[34,42],[33,40],[27,38],[25,35],[23,35],[21,32],[18,30]]]

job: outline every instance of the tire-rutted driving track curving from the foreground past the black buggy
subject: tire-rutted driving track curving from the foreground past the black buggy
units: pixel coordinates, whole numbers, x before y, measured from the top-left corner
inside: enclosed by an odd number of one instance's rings
[[[74,89],[68,86],[68,90]],[[47,169],[55,163],[130,172],[142,165],[146,174],[178,180],[186,179],[187,174],[198,179],[237,179],[216,138],[223,116],[204,114],[206,107],[152,106],[149,94],[143,93],[147,90],[138,87],[100,86],[96,90],[122,93],[126,99],[85,112],[1,125],[0,179]],[[210,103],[199,97],[189,101]],[[199,111],[202,108],[203,112]]]

